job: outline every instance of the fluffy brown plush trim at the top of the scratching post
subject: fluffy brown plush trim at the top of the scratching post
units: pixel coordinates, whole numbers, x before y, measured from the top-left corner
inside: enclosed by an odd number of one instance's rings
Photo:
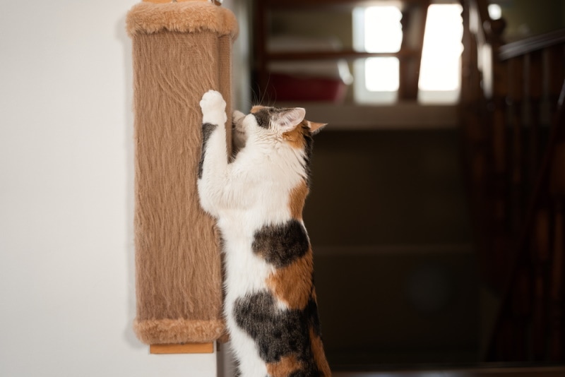
[[[234,13],[208,1],[183,1],[155,4],[143,2],[131,8],[126,18],[126,30],[133,37],[160,31],[201,32],[237,37],[237,20]]]

